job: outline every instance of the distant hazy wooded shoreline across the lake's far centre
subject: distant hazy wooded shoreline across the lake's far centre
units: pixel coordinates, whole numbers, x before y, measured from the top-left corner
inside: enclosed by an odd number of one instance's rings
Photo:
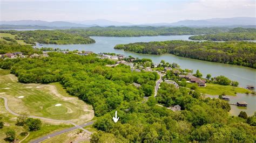
[[[68,33],[107,37],[140,37],[156,35],[197,35],[215,34],[228,31],[225,27],[153,27],[153,26],[109,26],[63,30]]]

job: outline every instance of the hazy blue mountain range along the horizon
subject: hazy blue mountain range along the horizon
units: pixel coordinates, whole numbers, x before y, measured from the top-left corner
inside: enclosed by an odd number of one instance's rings
[[[47,27],[92,27],[92,26],[135,26],[136,24],[125,23],[125,22],[114,22],[110,20],[98,19],[98,20],[84,20],[76,22],[45,22],[42,20],[16,20],[16,21],[1,21],[0,28],[8,25],[16,25],[13,27],[18,27],[21,25],[29,26],[47,26]],[[256,18],[255,17],[233,17],[233,18],[212,18],[204,20],[181,20],[176,23],[154,23],[154,24],[137,24],[137,26],[255,26]]]

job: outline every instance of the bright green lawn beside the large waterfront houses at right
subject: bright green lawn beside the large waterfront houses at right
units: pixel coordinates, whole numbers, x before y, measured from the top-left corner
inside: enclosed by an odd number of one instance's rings
[[[202,94],[209,94],[209,95],[221,95],[225,93],[225,95],[232,95],[235,96],[236,93],[251,93],[250,90],[240,87],[233,87],[231,85],[219,85],[219,84],[212,84],[212,83],[206,83],[206,87],[198,87],[196,83],[187,83],[186,87],[190,88],[192,85],[195,85],[197,87],[197,90],[201,92]]]

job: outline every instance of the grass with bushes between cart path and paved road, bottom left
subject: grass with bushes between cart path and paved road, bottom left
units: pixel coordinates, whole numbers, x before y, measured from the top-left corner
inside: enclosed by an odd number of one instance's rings
[[[0,129],[0,142],[6,142],[4,138],[6,138],[5,132],[9,130],[9,128],[12,128],[16,132],[16,140],[22,140],[25,137],[21,136],[20,134],[22,132],[25,132],[26,130],[22,126],[16,126],[16,119],[17,117],[14,115],[11,115],[8,111],[5,110],[4,107],[4,99],[0,98],[0,121],[3,121],[5,125],[2,129]],[[23,141],[23,142],[29,142],[32,139],[39,138],[45,134],[49,134],[52,132],[56,132],[58,130],[63,130],[64,128],[72,127],[72,125],[65,125],[65,124],[59,124],[59,125],[52,125],[49,123],[43,122],[41,130],[35,131],[35,132],[29,132],[29,136]]]

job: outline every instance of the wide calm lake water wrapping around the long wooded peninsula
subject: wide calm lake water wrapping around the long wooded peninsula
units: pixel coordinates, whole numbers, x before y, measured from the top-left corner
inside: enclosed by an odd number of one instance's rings
[[[117,44],[129,44],[132,42],[149,42],[149,41],[165,41],[165,40],[189,40],[188,37],[191,35],[170,35],[170,36],[154,36],[154,37],[91,37],[96,40],[95,44],[86,45],[54,45],[54,44],[44,44],[36,47],[53,47],[61,49],[69,49],[73,51],[78,49],[79,51],[93,51],[95,53],[109,52],[124,54],[126,56],[133,56],[138,58],[149,58],[155,63],[160,63],[161,60],[166,62],[176,62],[181,68],[193,69],[194,72],[199,69],[200,72],[205,77],[206,74],[211,74],[212,76],[224,75],[231,80],[238,81],[240,87],[245,87],[246,85],[256,85],[256,69],[227,65],[223,63],[207,62],[189,58],[182,58],[172,54],[164,55],[149,55],[149,54],[138,54],[133,52],[125,52],[123,50],[114,49],[113,47]]]

